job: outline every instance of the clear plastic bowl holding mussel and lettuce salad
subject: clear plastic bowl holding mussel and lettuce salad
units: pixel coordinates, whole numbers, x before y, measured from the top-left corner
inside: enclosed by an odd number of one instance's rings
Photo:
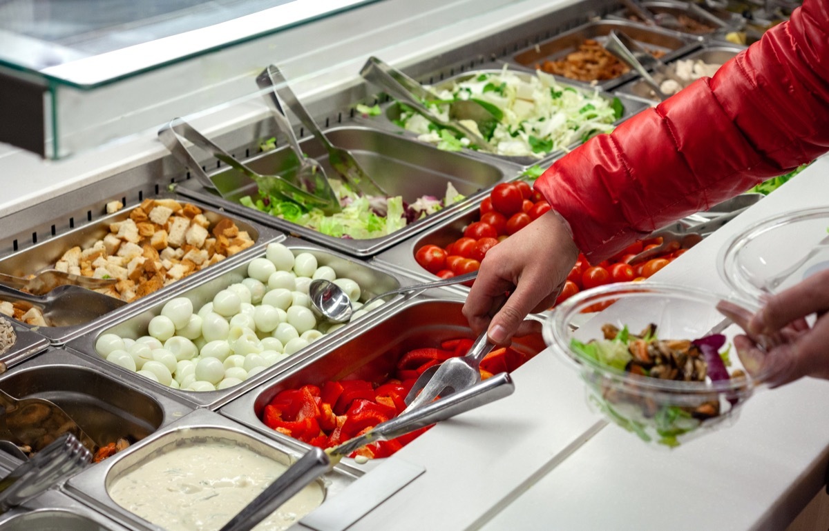
[[[699,339],[724,323],[723,315],[715,308],[720,300],[752,312],[758,309],[750,302],[701,289],[651,282],[605,285],[575,294],[560,304],[545,323],[544,337],[579,371],[591,408],[647,443],[675,447],[733,423],[739,407],[754,393],[762,376],[753,379],[746,374],[716,382],[708,377],[706,381],[662,380],[604,365],[574,350],[571,342],[603,339],[602,326],[606,323],[619,329],[627,326],[634,334],[654,323],[659,339]],[[730,332],[741,331],[735,325],[727,328],[723,332],[726,346],[730,344]],[[720,348],[720,353],[724,350]],[[735,352],[730,351],[729,357],[730,373],[744,371]],[[702,414],[712,407],[719,410],[718,414]]]

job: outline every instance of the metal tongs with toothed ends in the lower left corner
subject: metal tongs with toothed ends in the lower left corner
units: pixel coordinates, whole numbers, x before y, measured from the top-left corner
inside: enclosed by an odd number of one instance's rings
[[[66,433],[0,480],[0,513],[22,505],[91,460],[90,451]]]

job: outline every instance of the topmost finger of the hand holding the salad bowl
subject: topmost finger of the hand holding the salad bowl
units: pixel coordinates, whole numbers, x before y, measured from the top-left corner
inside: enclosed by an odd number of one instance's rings
[[[809,276],[768,299],[749,321],[748,332],[771,333],[797,318],[829,309],[829,270]]]

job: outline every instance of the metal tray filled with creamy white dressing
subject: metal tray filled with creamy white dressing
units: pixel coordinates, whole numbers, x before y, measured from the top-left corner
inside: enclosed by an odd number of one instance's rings
[[[66,482],[65,488],[70,495],[76,496],[79,500],[90,504],[121,524],[133,529],[157,531],[160,529],[158,526],[150,524],[116,504],[109,497],[109,486],[119,476],[141,466],[144,462],[152,460],[153,457],[157,457],[165,451],[172,450],[182,444],[197,444],[208,438],[218,438],[239,444],[286,465],[297,460],[303,453],[281,444],[275,438],[262,437],[260,433],[245,428],[220,414],[207,409],[196,409],[186,417],[153,433],[152,436],[144,439],[141,443],[109,457],[100,466],[90,467],[72,477],[70,481]],[[356,476],[342,469],[341,466],[335,467],[334,471],[327,473],[321,480],[326,498],[339,494],[355,479]],[[163,490],[159,486],[159,495],[162,495],[162,492]],[[163,501],[159,503],[163,503]]]

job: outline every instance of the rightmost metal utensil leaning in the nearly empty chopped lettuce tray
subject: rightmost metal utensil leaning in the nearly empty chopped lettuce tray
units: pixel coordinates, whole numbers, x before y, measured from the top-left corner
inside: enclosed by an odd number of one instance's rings
[[[268,77],[268,81],[279,98],[291,109],[291,112],[299,118],[305,127],[308,127],[313,136],[322,144],[325,151],[328,152],[328,162],[331,163],[332,168],[337,170],[337,173],[342,175],[356,191],[363,195],[387,196],[389,195],[380,184],[377,184],[371,175],[366,174],[360,163],[351,155],[351,151],[343,149],[342,147],[334,146],[328,137],[320,130],[317,122],[314,121],[311,114],[299,102],[297,95],[288,86],[284,75],[275,65],[269,65],[264,70],[263,74]]]

